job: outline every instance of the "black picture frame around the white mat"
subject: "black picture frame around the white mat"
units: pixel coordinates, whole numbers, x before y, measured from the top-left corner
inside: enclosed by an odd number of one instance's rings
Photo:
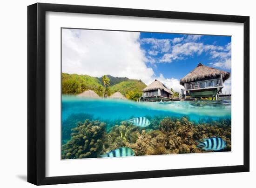
[[[243,23],[243,165],[46,177],[46,12]],[[241,62],[242,63],[242,62]],[[249,172],[249,17],[36,3],[27,7],[27,181],[35,185]]]

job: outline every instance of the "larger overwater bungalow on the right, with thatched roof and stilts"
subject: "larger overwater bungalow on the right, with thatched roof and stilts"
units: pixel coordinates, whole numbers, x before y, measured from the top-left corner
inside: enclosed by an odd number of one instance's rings
[[[215,97],[218,100],[223,82],[229,77],[229,72],[199,63],[194,70],[180,80],[180,84],[185,87],[185,94],[190,95],[190,98]]]

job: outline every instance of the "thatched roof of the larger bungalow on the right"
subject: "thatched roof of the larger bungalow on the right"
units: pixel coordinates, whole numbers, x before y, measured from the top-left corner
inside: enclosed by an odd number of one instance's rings
[[[199,63],[194,70],[192,70],[189,74],[187,74],[184,78],[180,80],[180,84],[184,86],[184,84],[188,82],[220,78],[221,75],[223,82],[229,79],[230,77],[229,72],[222,71],[212,67],[207,67]]]

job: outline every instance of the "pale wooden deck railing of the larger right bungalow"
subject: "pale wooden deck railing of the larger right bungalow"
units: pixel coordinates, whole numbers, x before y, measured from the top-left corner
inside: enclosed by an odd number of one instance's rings
[[[218,87],[222,85],[223,85],[222,79],[219,78],[219,79],[213,79],[213,80],[185,83],[184,86],[185,86],[185,90],[191,90],[191,89]]]

